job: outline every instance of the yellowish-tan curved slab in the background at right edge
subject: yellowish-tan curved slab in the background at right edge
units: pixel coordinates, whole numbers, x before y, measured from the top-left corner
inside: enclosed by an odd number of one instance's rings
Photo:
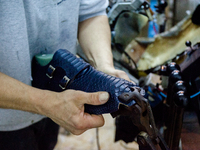
[[[186,18],[170,31],[158,35],[155,42],[148,45],[141,56],[138,70],[147,70],[162,65],[186,49],[185,42],[197,43],[200,40],[200,26]]]

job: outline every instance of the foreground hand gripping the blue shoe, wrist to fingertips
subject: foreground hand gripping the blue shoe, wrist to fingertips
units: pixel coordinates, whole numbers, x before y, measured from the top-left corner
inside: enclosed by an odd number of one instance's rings
[[[48,103],[43,114],[54,122],[70,131],[80,135],[88,129],[104,125],[102,115],[92,115],[84,112],[84,104],[101,105],[107,102],[107,92],[86,93],[82,91],[66,90],[56,93],[53,102]]]

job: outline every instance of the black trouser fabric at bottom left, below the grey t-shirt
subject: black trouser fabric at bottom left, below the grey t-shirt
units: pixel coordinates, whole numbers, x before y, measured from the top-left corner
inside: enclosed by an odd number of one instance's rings
[[[59,126],[51,119],[16,131],[0,131],[1,150],[53,150],[57,143]]]

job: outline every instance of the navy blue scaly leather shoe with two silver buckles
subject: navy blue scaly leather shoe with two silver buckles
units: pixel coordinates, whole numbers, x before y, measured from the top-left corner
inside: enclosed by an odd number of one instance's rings
[[[90,114],[113,113],[119,109],[120,104],[126,106],[135,104],[134,100],[125,102],[118,99],[122,93],[131,92],[131,87],[136,86],[135,84],[97,71],[67,50],[58,50],[46,66],[40,66],[34,59],[32,64],[34,87],[57,92],[66,89],[84,92],[107,91],[110,95],[107,103],[98,106],[85,105],[85,112]],[[52,78],[46,74],[52,75]],[[63,78],[64,76],[65,78]],[[61,87],[64,86],[65,89],[62,89]]]

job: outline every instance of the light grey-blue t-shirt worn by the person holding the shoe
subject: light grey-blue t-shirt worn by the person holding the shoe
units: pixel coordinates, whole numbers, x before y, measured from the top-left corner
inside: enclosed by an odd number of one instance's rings
[[[107,5],[107,0],[0,0],[0,71],[31,85],[33,56],[58,49],[75,54],[78,22],[106,15]],[[42,118],[0,109],[0,131],[21,129]]]

